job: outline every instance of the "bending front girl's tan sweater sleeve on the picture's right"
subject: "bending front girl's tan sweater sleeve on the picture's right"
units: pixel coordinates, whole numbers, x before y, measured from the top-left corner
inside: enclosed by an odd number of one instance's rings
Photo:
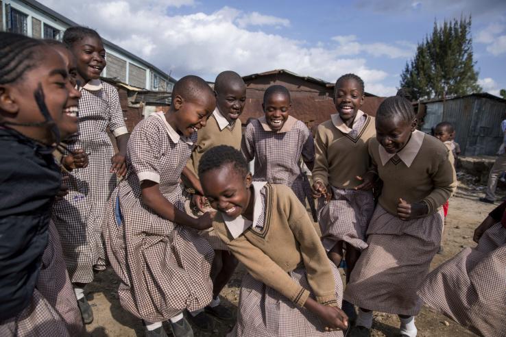
[[[299,242],[309,286],[313,289],[318,303],[337,306],[339,304],[335,297],[335,281],[330,260],[306,209],[296,195],[290,192],[291,190],[287,190],[283,193],[285,198],[278,199],[278,202],[282,203],[291,231]]]

